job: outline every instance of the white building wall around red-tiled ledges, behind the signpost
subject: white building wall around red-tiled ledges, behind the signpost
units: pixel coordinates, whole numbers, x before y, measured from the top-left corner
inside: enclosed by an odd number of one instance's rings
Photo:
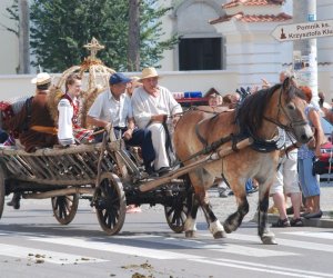
[[[292,1],[280,7],[236,7],[228,9],[228,14],[244,11],[246,14],[278,14],[286,12],[292,14]],[[317,1],[317,20],[332,18],[333,2]],[[271,83],[278,81],[279,72],[290,68],[293,62],[293,42],[278,42],[271,32],[284,22],[251,22],[244,23],[236,19],[216,23],[215,28],[226,38],[226,69],[240,72],[240,86],[261,85],[261,78]],[[332,40],[333,37],[317,39],[319,88],[333,98],[332,70]]]

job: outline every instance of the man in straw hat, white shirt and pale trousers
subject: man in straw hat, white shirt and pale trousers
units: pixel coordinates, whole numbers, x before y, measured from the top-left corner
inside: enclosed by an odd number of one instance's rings
[[[154,169],[163,175],[170,171],[167,147],[171,147],[165,122],[181,113],[182,108],[167,88],[159,86],[159,75],[154,68],[143,69],[140,81],[142,87],[137,88],[132,96],[133,116],[139,128],[151,131],[155,151]],[[178,118],[173,118],[173,123]]]

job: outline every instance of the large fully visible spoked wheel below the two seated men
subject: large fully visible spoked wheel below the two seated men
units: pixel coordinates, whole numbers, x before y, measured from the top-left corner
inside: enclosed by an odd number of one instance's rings
[[[124,222],[127,212],[125,195],[118,176],[103,173],[95,189],[95,212],[100,226],[109,235],[117,235]]]

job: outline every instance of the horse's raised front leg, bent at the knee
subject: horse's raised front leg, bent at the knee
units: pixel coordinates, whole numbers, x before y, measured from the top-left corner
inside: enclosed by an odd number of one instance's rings
[[[231,189],[236,198],[238,210],[230,215],[223,224],[223,228],[228,234],[235,231],[241,226],[244,216],[249,212],[245,182],[240,183],[239,181],[233,180],[231,185],[233,185]]]

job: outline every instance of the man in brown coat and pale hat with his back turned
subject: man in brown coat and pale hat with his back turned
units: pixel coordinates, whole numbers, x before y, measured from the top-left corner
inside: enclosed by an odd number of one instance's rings
[[[31,83],[36,85],[34,97],[28,98],[20,112],[3,122],[6,130],[17,131],[20,143],[28,152],[58,143],[57,129],[47,105],[51,77],[47,72],[41,72],[31,80]],[[19,209],[20,193],[14,193],[8,205]]]

